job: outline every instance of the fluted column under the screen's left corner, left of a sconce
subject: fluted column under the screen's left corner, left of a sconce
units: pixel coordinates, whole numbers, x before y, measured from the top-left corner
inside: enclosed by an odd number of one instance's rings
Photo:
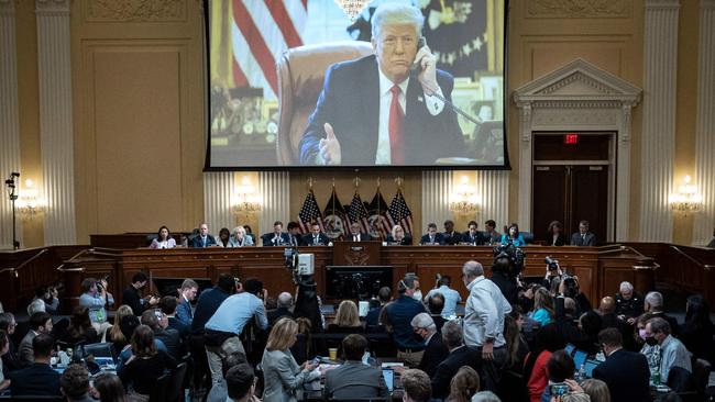
[[[221,227],[233,230],[235,219],[231,209],[232,196],[232,171],[204,174],[204,220],[209,225],[209,232],[215,236],[219,235]]]

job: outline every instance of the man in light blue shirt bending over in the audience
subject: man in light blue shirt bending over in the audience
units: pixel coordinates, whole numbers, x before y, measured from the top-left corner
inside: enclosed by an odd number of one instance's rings
[[[258,299],[258,294],[263,300]],[[263,282],[249,279],[243,284],[243,291],[227,298],[206,323],[204,339],[212,383],[221,381],[221,356],[235,350],[245,353],[239,338],[245,325],[255,317],[261,330],[268,327],[264,300],[266,292]]]

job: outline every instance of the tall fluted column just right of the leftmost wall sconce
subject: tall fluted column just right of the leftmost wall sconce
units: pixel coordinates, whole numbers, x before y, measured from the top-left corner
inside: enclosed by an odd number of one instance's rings
[[[75,244],[69,0],[36,0],[45,245]]]

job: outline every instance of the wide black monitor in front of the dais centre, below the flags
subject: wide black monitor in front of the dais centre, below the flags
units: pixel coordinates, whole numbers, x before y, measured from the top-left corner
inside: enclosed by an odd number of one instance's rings
[[[382,287],[392,287],[392,266],[327,266],[326,293],[329,298],[369,300]]]

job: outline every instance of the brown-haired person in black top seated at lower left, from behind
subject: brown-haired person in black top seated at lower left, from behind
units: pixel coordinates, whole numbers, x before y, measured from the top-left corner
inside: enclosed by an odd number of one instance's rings
[[[132,356],[117,375],[129,389],[129,400],[148,400],[148,394],[156,386],[156,380],[167,369],[175,369],[176,360],[164,350],[156,348],[154,332],[146,325],[140,325],[132,335]]]

